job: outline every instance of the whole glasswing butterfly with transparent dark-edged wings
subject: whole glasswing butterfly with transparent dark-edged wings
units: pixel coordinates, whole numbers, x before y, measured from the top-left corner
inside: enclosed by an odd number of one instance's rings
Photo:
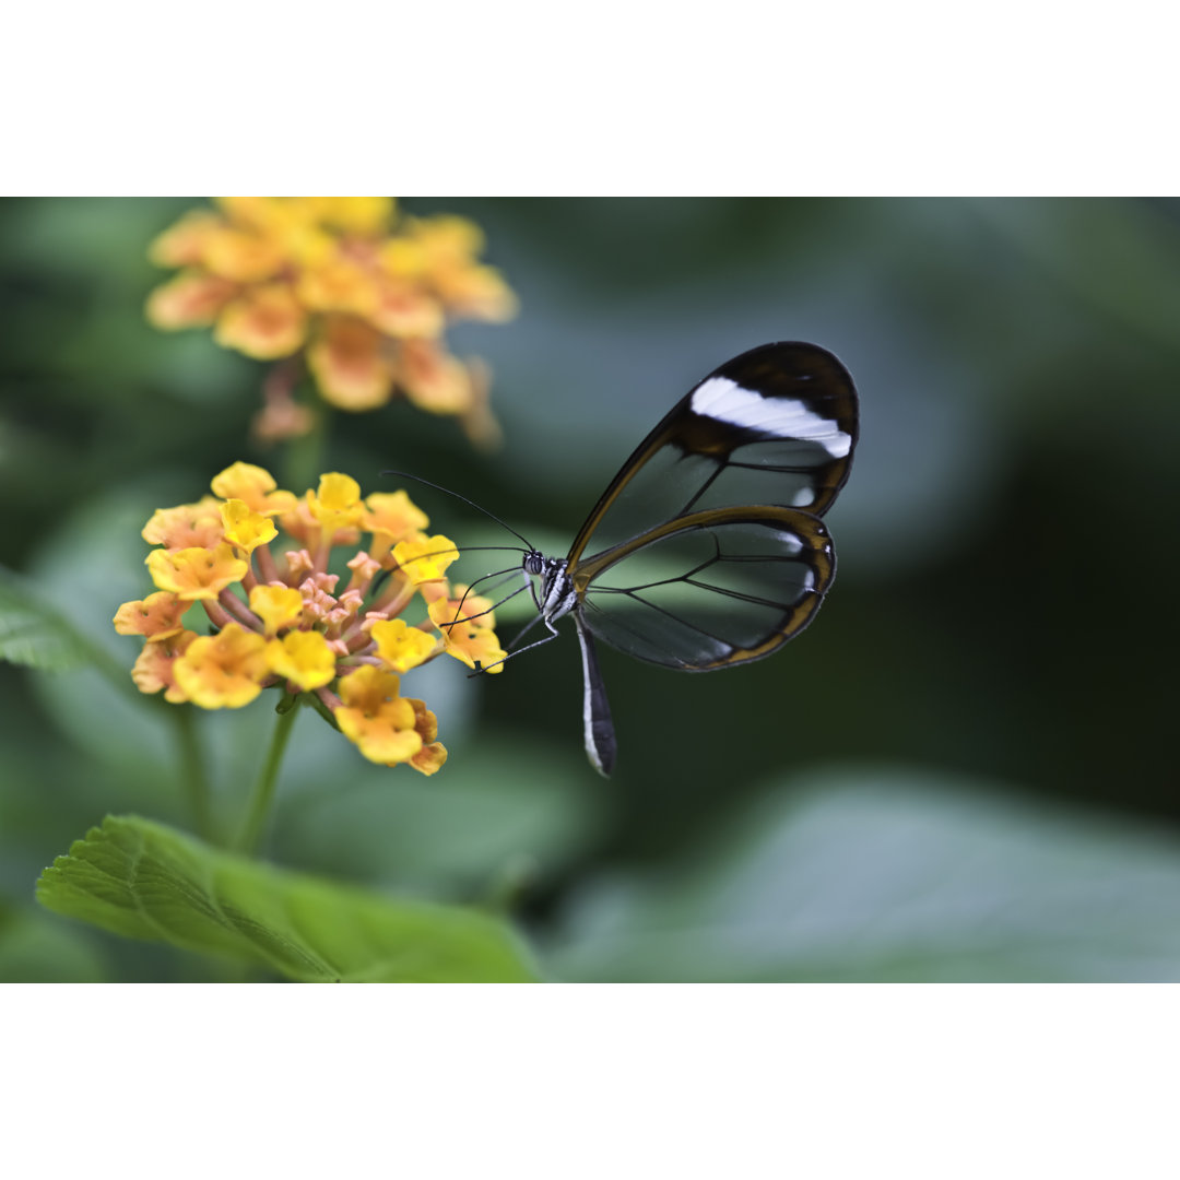
[[[553,624],[572,616],[586,754],[599,773],[610,774],[616,741],[595,640],[664,668],[713,671],[794,638],[835,576],[820,518],[848,478],[856,442],[847,369],[815,345],[762,345],[673,406],[564,558],[524,551],[537,615],[512,645],[538,622],[550,634],[513,654],[548,643]]]

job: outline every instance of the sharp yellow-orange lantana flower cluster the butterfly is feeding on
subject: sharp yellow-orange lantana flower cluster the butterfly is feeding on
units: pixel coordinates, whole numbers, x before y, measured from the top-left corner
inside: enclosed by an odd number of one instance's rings
[[[245,463],[211,487],[143,530],[158,546],[146,562],[157,590],[114,616],[119,634],[146,641],[131,673],[140,691],[205,709],[240,708],[271,686],[314,693],[367,759],[433,774],[446,760],[434,714],[401,696],[399,676],[442,653],[499,671],[506,655],[487,599],[445,577],[454,545],[427,536],[404,491],[362,499],[336,472],[302,498]],[[333,550],[365,533],[341,588]],[[414,602],[421,617],[409,622]],[[197,603],[214,634],[185,625]]]

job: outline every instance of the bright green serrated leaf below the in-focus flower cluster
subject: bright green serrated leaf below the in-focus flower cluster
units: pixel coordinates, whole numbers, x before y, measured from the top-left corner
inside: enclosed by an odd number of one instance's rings
[[[263,964],[303,982],[529,982],[526,956],[478,910],[384,897],[109,815],[41,873],[39,900],[129,938]]]

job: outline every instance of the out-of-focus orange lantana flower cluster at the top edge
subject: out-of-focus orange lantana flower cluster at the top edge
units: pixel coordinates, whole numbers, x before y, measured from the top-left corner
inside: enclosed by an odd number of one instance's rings
[[[385,405],[395,393],[457,414],[477,441],[496,433],[486,371],[452,356],[455,319],[504,321],[516,300],[478,262],[478,227],[461,217],[406,217],[388,197],[223,197],[165,230],[150,256],[181,274],[151,293],[158,328],[214,328],[257,360],[299,359],[341,409]],[[299,433],[290,400],[299,366],[267,384],[260,428]],[[306,428],[306,425],[304,425]]]

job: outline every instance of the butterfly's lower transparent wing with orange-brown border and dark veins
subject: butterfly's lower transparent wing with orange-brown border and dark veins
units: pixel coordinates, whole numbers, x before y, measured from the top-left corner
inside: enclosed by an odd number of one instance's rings
[[[649,663],[706,671],[760,660],[814,617],[835,575],[821,520],[791,509],[695,512],[573,573],[585,627]]]

